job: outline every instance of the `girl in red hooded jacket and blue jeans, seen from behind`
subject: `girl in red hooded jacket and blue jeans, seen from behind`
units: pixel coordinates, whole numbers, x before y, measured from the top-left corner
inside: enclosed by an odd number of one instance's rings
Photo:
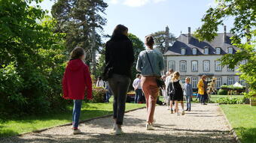
[[[74,100],[74,109],[72,115],[73,134],[81,133],[78,130],[79,117],[82,101],[84,100],[84,91],[87,91],[87,99],[92,99],[92,80],[87,64],[84,64],[85,52],[81,47],[76,47],[71,53],[71,60],[66,67],[63,79],[62,89],[65,99]]]

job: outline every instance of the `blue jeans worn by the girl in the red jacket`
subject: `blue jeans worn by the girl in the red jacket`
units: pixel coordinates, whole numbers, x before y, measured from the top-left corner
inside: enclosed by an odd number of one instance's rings
[[[82,106],[82,100],[74,100],[74,108],[73,108],[73,115],[72,115],[72,125],[74,129],[78,129],[81,106]]]

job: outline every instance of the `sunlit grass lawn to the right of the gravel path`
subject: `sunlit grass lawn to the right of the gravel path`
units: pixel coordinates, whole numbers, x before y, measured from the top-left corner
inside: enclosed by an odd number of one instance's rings
[[[242,143],[256,143],[256,106],[220,105]]]

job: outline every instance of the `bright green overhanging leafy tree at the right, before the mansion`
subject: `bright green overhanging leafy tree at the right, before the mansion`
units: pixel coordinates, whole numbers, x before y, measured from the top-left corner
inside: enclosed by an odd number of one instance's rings
[[[250,85],[250,94],[256,94],[256,4],[255,0],[216,0],[218,5],[210,7],[203,16],[203,25],[196,31],[196,36],[200,40],[213,40],[217,35],[218,25],[223,25],[224,19],[233,17],[233,28],[230,32],[233,34],[232,43],[240,50],[235,54],[222,56],[222,64],[234,68],[239,65],[240,78]],[[242,42],[242,39],[247,42]],[[251,40],[251,41],[250,41]],[[246,61],[246,64],[239,64]]]

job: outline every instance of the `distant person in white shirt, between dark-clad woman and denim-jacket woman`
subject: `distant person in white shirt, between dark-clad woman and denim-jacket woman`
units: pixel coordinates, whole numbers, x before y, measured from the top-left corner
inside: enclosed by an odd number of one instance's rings
[[[133,88],[136,92],[134,103],[139,103],[143,96],[142,85],[141,85],[141,75],[139,73],[136,74],[136,79],[134,79],[133,81]]]

